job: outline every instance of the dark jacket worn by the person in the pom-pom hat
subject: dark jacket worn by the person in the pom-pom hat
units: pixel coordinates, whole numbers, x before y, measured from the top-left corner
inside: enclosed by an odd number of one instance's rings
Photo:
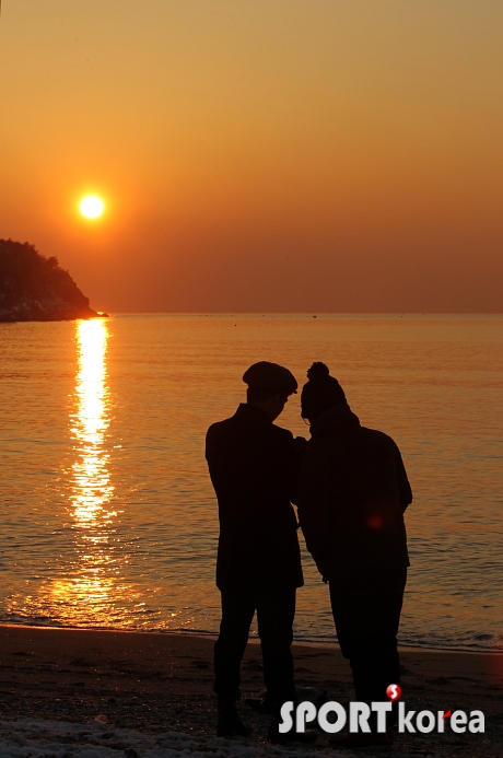
[[[299,517],[325,580],[409,565],[403,511],[412,491],[390,436],[349,406],[312,424],[301,460]]]

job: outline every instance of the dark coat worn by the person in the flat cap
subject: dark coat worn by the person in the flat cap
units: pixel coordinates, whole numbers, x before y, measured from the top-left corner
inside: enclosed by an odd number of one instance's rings
[[[302,586],[291,432],[242,404],[210,427],[206,457],[219,501],[218,587]]]

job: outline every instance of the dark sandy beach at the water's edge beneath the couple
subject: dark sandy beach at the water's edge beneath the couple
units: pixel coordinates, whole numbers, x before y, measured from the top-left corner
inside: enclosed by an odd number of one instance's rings
[[[128,747],[131,736],[128,744],[124,737],[117,743],[117,731],[137,734],[137,742],[142,738],[139,735],[189,735],[194,749],[176,749],[227,755],[226,746],[232,754],[232,740],[214,744],[211,638],[2,626],[0,639],[0,738],[13,728],[17,733],[33,730],[33,720],[42,720],[91,724],[98,730],[92,737],[96,755],[96,746],[120,754],[133,749]],[[331,700],[353,699],[351,672],[336,645],[295,644],[293,650],[297,685],[321,687]],[[401,663],[408,709],[480,709],[486,714],[486,733],[459,735],[447,728],[444,735],[396,735],[390,755],[501,758],[503,655],[405,649]],[[260,649],[252,642],[243,663],[243,695],[262,688]],[[254,726],[253,737],[241,740],[242,747],[246,743],[248,755],[270,751],[272,746],[265,745],[269,716],[254,713],[244,702],[239,708]],[[91,739],[84,733],[75,732],[74,753]],[[315,753],[327,753],[323,733],[316,748],[309,748],[309,754]],[[0,749],[0,754],[9,751]],[[137,754],[145,750],[138,747]]]

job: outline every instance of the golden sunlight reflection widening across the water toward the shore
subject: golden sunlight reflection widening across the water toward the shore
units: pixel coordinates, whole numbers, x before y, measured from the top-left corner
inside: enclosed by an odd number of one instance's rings
[[[116,506],[117,460],[113,473],[110,453],[122,445],[113,444],[117,436],[110,430],[109,339],[104,319],[75,324],[77,372],[67,427],[70,458],[61,466],[56,489],[62,502],[50,509],[57,514],[50,558],[38,569],[49,578],[35,592],[13,595],[10,603],[12,615],[38,623],[148,628],[160,617],[159,585],[145,581],[134,549],[141,516],[131,516],[130,508],[128,512],[124,481],[118,482],[122,506]],[[178,599],[183,606],[184,599]],[[168,618],[157,620],[156,628],[176,626],[183,613],[169,608]],[[183,625],[191,621],[190,616]]]

